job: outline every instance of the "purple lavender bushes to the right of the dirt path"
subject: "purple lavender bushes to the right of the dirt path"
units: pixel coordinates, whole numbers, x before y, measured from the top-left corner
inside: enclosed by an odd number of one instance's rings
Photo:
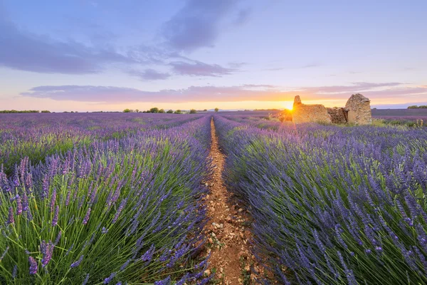
[[[228,187],[280,284],[427,282],[427,131],[215,116]],[[268,281],[265,281],[268,283]]]

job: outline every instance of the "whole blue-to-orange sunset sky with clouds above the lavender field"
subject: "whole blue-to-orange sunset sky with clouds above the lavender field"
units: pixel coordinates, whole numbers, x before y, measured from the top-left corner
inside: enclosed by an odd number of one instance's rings
[[[0,0],[0,110],[427,105],[427,1]]]

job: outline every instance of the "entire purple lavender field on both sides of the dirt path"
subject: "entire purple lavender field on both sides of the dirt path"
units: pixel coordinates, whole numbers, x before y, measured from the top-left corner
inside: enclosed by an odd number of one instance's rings
[[[216,284],[212,118],[258,283],[427,283],[427,128],[257,112],[0,114],[0,282]]]

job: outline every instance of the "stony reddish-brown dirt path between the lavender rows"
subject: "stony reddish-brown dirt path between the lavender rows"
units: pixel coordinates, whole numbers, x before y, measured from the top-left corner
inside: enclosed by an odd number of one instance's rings
[[[214,120],[211,120],[211,153],[214,174],[207,182],[211,194],[206,197],[209,224],[206,226],[208,241],[205,254],[211,253],[206,275],[215,274],[211,284],[253,284],[255,273],[259,271],[254,257],[249,251],[248,239],[251,233],[246,211],[230,202],[230,192],[226,190],[221,173],[225,157],[218,147]]]

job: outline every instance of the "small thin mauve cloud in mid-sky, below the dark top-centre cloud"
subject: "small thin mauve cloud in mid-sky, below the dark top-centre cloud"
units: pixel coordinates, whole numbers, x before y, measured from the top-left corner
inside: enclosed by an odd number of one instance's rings
[[[202,63],[201,61],[193,61],[192,63],[172,61],[169,66],[172,66],[174,73],[183,76],[223,76],[236,71],[232,68],[224,68],[218,64]]]

